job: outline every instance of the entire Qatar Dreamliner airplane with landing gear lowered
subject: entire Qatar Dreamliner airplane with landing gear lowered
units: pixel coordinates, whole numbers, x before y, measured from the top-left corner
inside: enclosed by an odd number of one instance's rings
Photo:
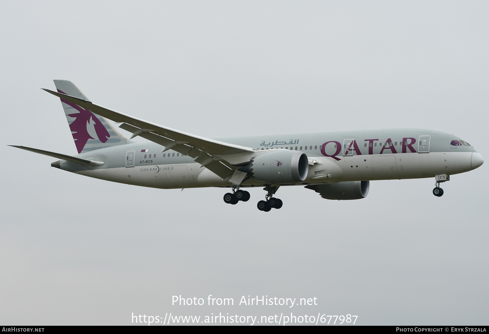
[[[303,186],[330,200],[365,198],[370,181],[435,177],[433,194],[450,175],[484,163],[454,134],[421,129],[282,133],[204,138],[94,104],[67,80],[54,80],[77,155],[14,146],[60,160],[52,167],[97,179],[152,188],[231,188],[235,205],[250,198],[243,188],[264,187],[261,211],[280,209],[282,186]],[[133,133],[124,137],[119,128]],[[134,142],[139,136],[147,142]],[[13,146],[13,145],[12,145]]]

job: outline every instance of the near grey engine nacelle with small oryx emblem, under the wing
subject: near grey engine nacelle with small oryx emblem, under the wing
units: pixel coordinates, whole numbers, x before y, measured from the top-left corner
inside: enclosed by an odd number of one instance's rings
[[[258,153],[247,166],[239,170],[248,172],[264,183],[299,183],[307,177],[309,160],[304,152],[279,148]]]

